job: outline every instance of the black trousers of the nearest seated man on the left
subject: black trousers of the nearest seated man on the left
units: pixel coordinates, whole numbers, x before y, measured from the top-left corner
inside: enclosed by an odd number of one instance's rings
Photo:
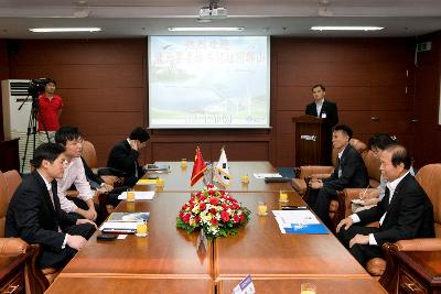
[[[72,236],[83,236],[84,238],[89,239],[95,232],[95,227],[90,224],[83,224],[67,227],[64,232]],[[50,266],[61,269],[67,264],[76,252],[77,250],[67,244],[64,249],[43,247],[43,250],[36,260],[36,265],[41,269]]]

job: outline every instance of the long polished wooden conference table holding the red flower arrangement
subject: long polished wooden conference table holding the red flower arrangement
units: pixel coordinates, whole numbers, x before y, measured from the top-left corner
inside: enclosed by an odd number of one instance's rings
[[[181,167],[176,166],[180,174]],[[168,175],[173,175],[173,167]],[[182,179],[173,184],[170,177],[165,186],[170,184],[178,188]],[[181,182],[182,189],[187,188],[185,183]],[[263,182],[263,185],[267,184]],[[176,228],[178,214],[192,190],[157,192],[152,200],[122,200],[116,211],[150,211],[149,236],[138,238],[129,235],[121,240],[98,241],[97,231],[65,266],[47,293],[63,290],[63,293],[95,294],[98,288],[108,293],[184,293],[183,288],[190,293],[230,293],[228,291],[248,274],[261,287],[258,293],[286,287],[280,293],[288,293],[303,280],[316,281],[314,283],[320,288],[335,282],[333,291],[363,286],[368,290],[366,293],[384,293],[332,233],[280,232],[271,210],[281,209],[283,205],[305,205],[292,189],[281,189],[288,194],[287,204],[279,203],[279,188],[229,190],[250,209],[249,222],[236,236],[208,241],[205,249],[196,248],[198,232],[187,235]],[[261,200],[268,206],[268,216],[257,214]]]

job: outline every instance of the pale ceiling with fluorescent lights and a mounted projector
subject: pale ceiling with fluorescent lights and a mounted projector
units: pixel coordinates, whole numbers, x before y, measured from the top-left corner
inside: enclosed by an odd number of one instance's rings
[[[441,30],[441,0],[217,0],[228,17],[201,23],[198,11],[208,4],[208,0],[0,0],[0,39],[178,34],[170,33],[169,26],[245,26],[244,32],[225,34],[287,36],[417,36]],[[312,25],[378,25],[385,30],[314,32]],[[28,31],[47,26],[99,26],[103,31]]]

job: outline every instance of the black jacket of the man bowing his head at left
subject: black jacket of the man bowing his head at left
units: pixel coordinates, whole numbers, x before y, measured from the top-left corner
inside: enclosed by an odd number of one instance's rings
[[[139,153],[131,149],[127,140],[123,140],[111,149],[107,166],[125,172],[123,185],[131,187],[144,174],[142,166],[138,163],[138,157]],[[135,175],[137,166],[138,177]]]

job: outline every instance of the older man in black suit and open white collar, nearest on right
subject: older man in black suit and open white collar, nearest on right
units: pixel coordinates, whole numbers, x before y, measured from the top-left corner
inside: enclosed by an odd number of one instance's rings
[[[433,206],[409,173],[409,152],[401,145],[389,145],[381,152],[380,162],[381,175],[387,179],[385,197],[377,206],[353,214],[337,226],[338,239],[363,266],[369,259],[383,257],[385,242],[434,237]],[[363,227],[374,221],[380,227]]]

